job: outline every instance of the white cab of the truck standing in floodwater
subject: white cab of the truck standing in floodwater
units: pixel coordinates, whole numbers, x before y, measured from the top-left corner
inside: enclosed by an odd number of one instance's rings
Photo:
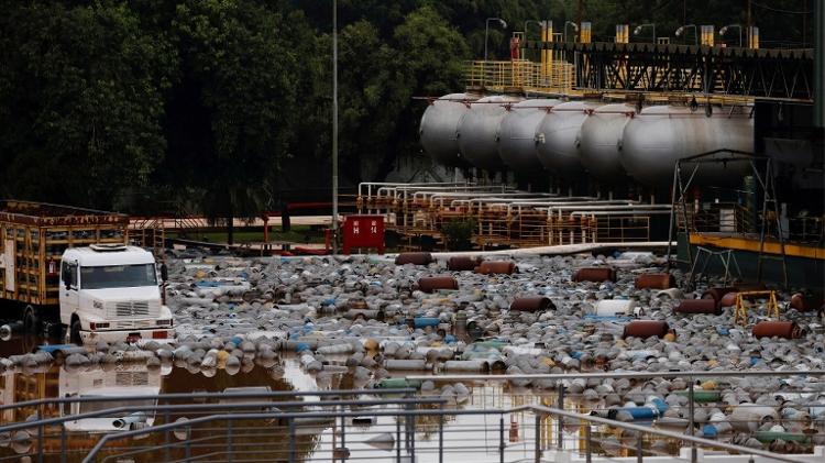
[[[148,251],[120,244],[69,247],[59,276],[61,323],[69,342],[172,339],[172,312]]]

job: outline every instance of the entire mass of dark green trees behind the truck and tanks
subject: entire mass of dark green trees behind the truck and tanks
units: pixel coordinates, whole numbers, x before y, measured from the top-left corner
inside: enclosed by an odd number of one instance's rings
[[[420,151],[414,97],[462,89],[485,19],[509,24],[490,29],[495,58],[525,21],[559,30],[579,3],[339,0],[343,184],[381,179]],[[656,22],[659,35],[744,23],[747,0],[581,3],[598,40],[616,23]],[[331,0],[0,4],[0,197],[244,217],[306,195],[310,177],[328,184]],[[762,43],[810,43],[810,15],[798,13],[811,5],[755,2]]]

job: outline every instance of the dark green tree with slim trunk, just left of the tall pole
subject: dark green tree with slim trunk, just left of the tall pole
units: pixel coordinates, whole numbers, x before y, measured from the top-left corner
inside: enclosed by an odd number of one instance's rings
[[[189,169],[210,218],[250,218],[292,136],[298,59],[284,16],[253,0],[190,0],[173,21],[183,79],[175,88],[172,172]]]

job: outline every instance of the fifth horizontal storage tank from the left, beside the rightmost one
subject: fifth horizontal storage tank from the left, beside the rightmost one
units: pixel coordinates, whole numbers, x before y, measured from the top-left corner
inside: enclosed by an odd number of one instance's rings
[[[582,123],[579,155],[592,176],[609,184],[627,181],[619,150],[625,125],[635,113],[636,109],[629,104],[605,104],[596,108]]]

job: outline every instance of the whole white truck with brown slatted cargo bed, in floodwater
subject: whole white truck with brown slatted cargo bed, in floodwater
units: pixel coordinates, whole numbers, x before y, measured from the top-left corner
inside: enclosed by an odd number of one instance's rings
[[[61,327],[78,344],[173,339],[165,267],[127,245],[128,225],[114,212],[0,201],[0,299],[26,331]]]

